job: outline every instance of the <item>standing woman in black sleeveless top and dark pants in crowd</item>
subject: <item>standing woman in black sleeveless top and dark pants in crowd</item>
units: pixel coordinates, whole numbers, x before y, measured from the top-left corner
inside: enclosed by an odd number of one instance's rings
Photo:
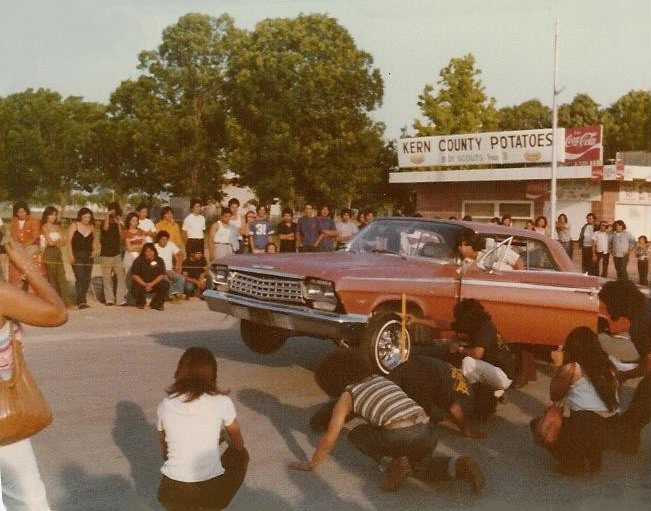
[[[79,309],[88,308],[86,295],[93,273],[94,242],[95,218],[93,212],[88,208],[81,208],[77,212],[77,221],[68,228],[68,257],[75,274],[75,290]]]

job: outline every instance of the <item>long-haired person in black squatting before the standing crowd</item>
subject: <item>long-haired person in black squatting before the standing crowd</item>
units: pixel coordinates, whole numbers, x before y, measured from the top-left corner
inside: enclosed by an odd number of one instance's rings
[[[150,307],[162,311],[169,282],[165,275],[165,263],[158,257],[153,243],[145,243],[142,247],[131,267],[131,279],[131,295],[136,301],[136,307],[144,309],[147,293],[154,293]]]

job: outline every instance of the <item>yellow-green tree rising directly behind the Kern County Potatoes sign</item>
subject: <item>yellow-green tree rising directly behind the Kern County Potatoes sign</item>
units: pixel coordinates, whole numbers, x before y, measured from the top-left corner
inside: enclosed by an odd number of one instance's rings
[[[480,74],[472,54],[451,59],[439,73],[436,95],[435,87],[427,84],[418,96],[418,106],[428,120],[427,124],[414,122],[418,135],[495,130],[499,122],[495,99],[486,96]]]

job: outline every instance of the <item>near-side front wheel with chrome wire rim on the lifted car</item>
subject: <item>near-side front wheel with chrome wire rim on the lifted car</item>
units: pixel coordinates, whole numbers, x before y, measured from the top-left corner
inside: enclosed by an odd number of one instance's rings
[[[402,321],[393,312],[381,312],[369,321],[366,333],[360,341],[359,352],[368,357],[371,365],[380,374],[388,374],[401,362],[400,338]],[[409,358],[411,337],[405,335],[405,360]]]

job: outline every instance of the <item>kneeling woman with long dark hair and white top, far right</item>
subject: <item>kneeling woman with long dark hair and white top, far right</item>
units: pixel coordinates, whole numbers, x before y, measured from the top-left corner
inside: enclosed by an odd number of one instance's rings
[[[551,448],[567,474],[598,472],[609,434],[615,431],[619,408],[617,370],[597,334],[575,328],[563,346],[564,364],[550,383],[550,397],[565,399],[569,417]]]

